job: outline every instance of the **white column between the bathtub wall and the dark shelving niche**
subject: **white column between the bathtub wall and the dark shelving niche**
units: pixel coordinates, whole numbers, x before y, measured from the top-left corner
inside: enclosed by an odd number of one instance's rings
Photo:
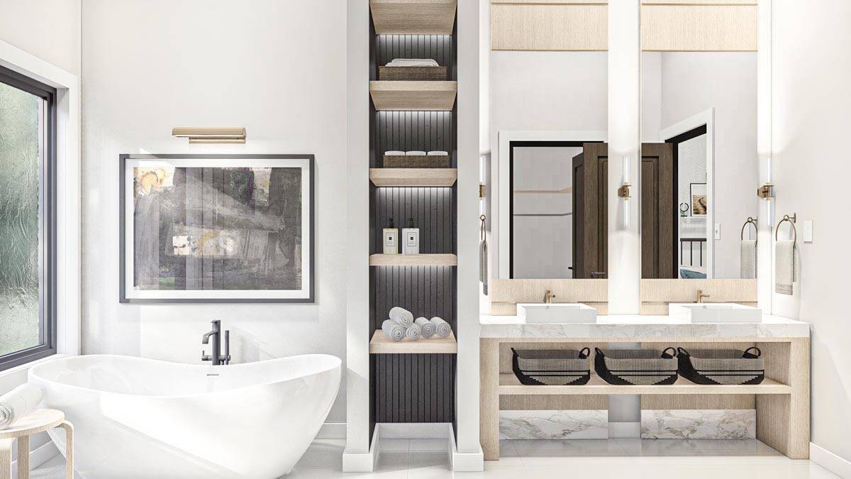
[[[346,450],[343,470],[372,470],[369,453],[369,3],[347,3],[348,208]],[[320,298],[320,301],[322,299]]]

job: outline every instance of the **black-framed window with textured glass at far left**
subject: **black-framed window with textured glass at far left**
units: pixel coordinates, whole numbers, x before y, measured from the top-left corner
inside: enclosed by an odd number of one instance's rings
[[[56,352],[55,98],[0,67],[0,370]]]

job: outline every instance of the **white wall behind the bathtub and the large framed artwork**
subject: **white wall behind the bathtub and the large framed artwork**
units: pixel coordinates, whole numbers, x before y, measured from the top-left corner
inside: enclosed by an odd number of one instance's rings
[[[235,362],[345,358],[346,2],[86,0],[83,19],[83,352],[200,363],[219,319]],[[248,142],[170,136],[203,125]],[[119,153],[314,153],[316,303],[118,303]]]

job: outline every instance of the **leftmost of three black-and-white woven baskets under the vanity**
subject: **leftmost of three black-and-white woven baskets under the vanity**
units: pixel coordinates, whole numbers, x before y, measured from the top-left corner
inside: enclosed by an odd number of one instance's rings
[[[591,378],[591,349],[514,349],[511,369],[528,386],[572,386]]]

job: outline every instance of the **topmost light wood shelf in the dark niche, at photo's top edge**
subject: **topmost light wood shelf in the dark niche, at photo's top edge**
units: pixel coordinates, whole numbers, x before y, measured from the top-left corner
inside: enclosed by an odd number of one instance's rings
[[[369,0],[379,35],[451,35],[456,0]]]

